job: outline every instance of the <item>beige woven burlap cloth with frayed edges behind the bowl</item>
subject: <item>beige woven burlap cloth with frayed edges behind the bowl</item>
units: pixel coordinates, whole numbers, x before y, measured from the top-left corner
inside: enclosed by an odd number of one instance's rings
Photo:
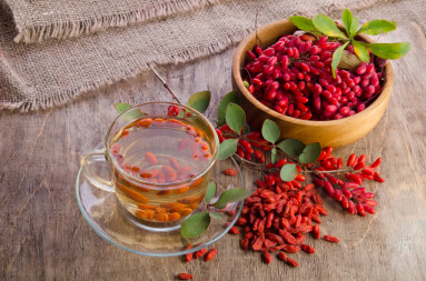
[[[410,20],[426,29],[425,0],[0,0],[0,110],[52,107],[85,91],[135,77],[150,63],[185,62],[219,52],[254,30],[257,12],[261,26],[296,13],[326,12],[335,3],[333,16],[349,8],[365,20]],[[100,8],[102,4],[108,8]],[[129,26],[136,22],[139,23]],[[119,26],[128,27],[107,29]],[[59,29],[55,31],[56,28]],[[13,39],[46,40],[24,44]]]

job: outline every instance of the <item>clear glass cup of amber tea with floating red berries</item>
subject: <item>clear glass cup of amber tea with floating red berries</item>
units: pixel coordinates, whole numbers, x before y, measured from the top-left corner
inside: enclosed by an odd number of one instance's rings
[[[85,155],[81,168],[91,184],[116,193],[127,220],[171,231],[202,202],[218,150],[215,128],[201,113],[178,103],[148,102],[117,117],[105,148]],[[102,162],[109,174],[99,172]]]

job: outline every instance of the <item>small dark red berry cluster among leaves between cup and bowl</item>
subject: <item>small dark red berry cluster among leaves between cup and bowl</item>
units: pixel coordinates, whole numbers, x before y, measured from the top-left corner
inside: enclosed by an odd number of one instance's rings
[[[261,137],[260,132],[255,131],[246,136],[238,136],[228,124],[216,129],[216,132],[220,142],[226,139],[238,138],[237,154],[247,161],[256,159],[257,162],[265,163],[265,154],[261,150],[267,151],[273,149],[269,142]]]

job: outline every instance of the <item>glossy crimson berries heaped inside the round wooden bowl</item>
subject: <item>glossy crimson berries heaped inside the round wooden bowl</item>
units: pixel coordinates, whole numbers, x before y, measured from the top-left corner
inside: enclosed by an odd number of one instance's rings
[[[248,90],[275,111],[305,120],[335,120],[363,111],[380,90],[373,57],[351,72],[331,61],[338,41],[316,40],[308,34],[283,36],[275,44],[247,51]],[[348,48],[350,53],[354,49]]]

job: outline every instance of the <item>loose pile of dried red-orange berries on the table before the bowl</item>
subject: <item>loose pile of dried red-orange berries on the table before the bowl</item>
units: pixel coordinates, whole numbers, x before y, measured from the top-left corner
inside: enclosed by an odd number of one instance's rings
[[[300,167],[298,171],[301,171]],[[313,233],[315,239],[320,238],[319,217],[326,215],[327,210],[315,184],[303,187],[304,181],[303,174],[293,181],[283,181],[278,172],[256,181],[258,189],[246,199],[241,217],[236,223],[244,230],[240,241],[244,250],[264,252],[265,263],[271,262],[271,252],[279,251],[278,259],[291,267],[297,267],[297,262],[287,258],[286,252],[315,252],[313,247],[305,243],[306,233]]]

